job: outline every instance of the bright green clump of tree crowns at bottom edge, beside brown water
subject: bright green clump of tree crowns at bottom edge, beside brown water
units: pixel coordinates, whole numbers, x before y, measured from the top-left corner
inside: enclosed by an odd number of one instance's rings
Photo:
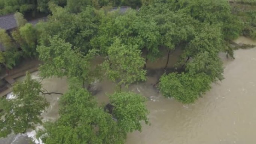
[[[113,115],[98,107],[86,89],[70,89],[61,96],[60,118],[47,122],[38,137],[45,144],[124,144],[128,132],[141,130],[141,120],[148,121],[145,99],[126,92],[110,99]]]

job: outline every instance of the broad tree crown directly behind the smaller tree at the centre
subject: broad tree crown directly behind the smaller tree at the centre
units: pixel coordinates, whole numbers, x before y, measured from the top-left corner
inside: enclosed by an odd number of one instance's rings
[[[125,13],[118,10],[103,13],[98,34],[91,40],[91,45],[107,54],[116,38],[124,45],[137,45],[138,49],[146,49],[146,60],[154,60],[159,56],[160,34],[152,19],[142,19],[137,11],[128,9]]]

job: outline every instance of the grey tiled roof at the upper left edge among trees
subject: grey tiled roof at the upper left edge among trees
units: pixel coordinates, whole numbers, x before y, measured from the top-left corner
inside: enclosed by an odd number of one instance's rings
[[[10,30],[15,27],[17,27],[17,23],[13,13],[0,16],[0,28],[3,28],[4,30]]]

